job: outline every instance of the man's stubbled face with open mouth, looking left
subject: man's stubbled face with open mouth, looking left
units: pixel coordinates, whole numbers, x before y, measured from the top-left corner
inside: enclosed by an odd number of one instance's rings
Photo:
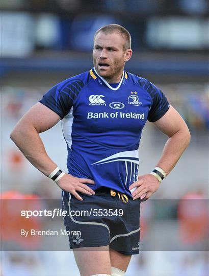
[[[132,50],[124,51],[125,38],[119,33],[99,32],[94,40],[93,63],[97,73],[109,82],[119,82]]]

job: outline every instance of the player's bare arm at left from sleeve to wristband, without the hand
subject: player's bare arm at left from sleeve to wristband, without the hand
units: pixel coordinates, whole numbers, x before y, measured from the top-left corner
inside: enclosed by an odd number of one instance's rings
[[[57,165],[47,155],[39,133],[53,127],[59,121],[57,113],[37,103],[20,119],[10,134],[10,138],[24,156],[46,176],[54,171]]]

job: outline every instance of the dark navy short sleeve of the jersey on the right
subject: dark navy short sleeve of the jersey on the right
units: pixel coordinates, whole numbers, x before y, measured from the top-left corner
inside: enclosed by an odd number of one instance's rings
[[[166,96],[158,87],[149,81],[146,86],[146,90],[152,98],[152,105],[150,107],[147,119],[149,122],[155,122],[164,116],[164,114],[168,111],[170,104]]]

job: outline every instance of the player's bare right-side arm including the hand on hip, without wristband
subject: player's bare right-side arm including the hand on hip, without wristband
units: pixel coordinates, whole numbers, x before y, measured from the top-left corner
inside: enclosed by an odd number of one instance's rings
[[[190,143],[190,132],[185,121],[179,113],[170,106],[165,115],[154,122],[154,125],[163,133],[168,135],[162,156],[156,166],[162,168],[168,175],[178,162],[180,156]],[[137,199],[144,194],[143,201],[147,200],[156,190],[160,182],[151,174],[139,176],[138,181],[130,185],[129,189],[137,188],[132,196]]]

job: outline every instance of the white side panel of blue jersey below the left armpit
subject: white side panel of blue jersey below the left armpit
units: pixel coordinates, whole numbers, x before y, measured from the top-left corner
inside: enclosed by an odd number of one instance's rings
[[[71,134],[72,134],[72,122],[74,118],[72,115],[72,111],[73,111],[73,107],[71,107],[69,113],[61,121],[62,132],[69,149],[71,149],[71,145],[72,145]]]

